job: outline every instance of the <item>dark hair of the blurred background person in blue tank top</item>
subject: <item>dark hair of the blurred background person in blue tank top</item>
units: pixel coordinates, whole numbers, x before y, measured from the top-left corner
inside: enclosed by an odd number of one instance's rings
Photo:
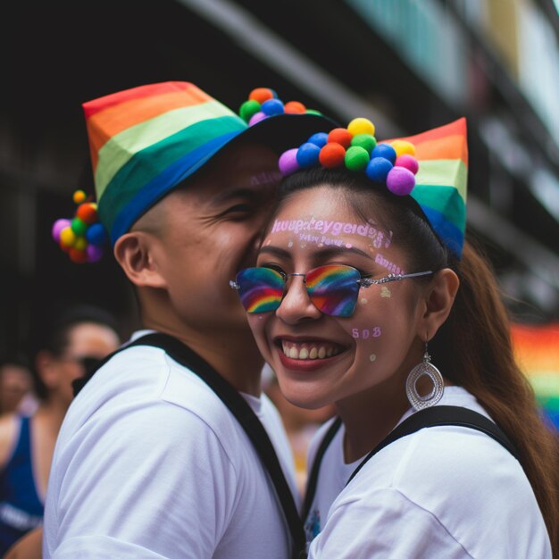
[[[46,325],[44,334],[35,342],[33,355],[37,355],[39,351],[48,351],[55,357],[62,356],[70,345],[71,330],[84,323],[93,323],[110,328],[121,338],[119,324],[113,314],[94,305],[71,305],[57,314],[50,321],[50,324]],[[33,382],[38,397],[45,399],[47,394],[46,386],[34,367]]]

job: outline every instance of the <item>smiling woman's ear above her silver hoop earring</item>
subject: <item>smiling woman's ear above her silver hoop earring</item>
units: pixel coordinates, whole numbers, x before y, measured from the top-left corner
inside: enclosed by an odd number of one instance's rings
[[[438,271],[430,283],[425,299],[425,310],[421,319],[420,337],[433,338],[444,324],[455,302],[460,280],[450,268]],[[428,340],[425,340],[428,341]]]

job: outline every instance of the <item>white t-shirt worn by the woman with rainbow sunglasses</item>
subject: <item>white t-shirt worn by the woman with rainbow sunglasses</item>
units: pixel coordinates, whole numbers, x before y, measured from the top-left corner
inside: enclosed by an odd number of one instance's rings
[[[445,388],[438,405],[488,417],[459,387]],[[310,465],[332,421],[313,439]],[[530,482],[513,455],[487,435],[456,426],[417,431],[374,455],[347,487],[361,461],[344,463],[343,438],[342,425],[322,459],[306,521],[307,538],[312,528],[320,531],[309,559],[551,558]]]

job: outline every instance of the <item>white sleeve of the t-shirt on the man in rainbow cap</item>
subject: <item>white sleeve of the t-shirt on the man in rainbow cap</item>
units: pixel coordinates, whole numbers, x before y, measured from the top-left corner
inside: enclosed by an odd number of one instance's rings
[[[97,417],[57,454],[46,557],[211,557],[238,504],[219,439],[177,405]]]

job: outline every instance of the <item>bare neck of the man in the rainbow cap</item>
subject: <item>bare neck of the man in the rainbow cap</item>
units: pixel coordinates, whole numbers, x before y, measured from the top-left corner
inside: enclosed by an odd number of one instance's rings
[[[240,392],[260,396],[263,357],[246,325],[211,333],[145,319],[144,327],[178,338]]]

